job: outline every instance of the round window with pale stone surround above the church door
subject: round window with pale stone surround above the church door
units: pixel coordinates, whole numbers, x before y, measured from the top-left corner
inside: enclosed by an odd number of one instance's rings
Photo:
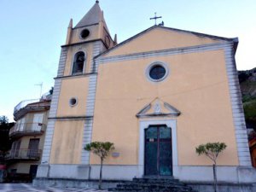
[[[159,82],[166,79],[168,73],[169,70],[167,65],[160,61],[151,63],[146,70],[147,78],[154,82]]]

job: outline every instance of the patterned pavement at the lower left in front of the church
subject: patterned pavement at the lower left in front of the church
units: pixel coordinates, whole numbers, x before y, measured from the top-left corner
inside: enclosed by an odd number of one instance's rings
[[[97,190],[97,189],[75,189],[75,188],[38,188],[33,187],[32,184],[28,183],[0,183],[0,192],[61,192],[61,191],[70,191],[70,192],[107,192],[108,190]]]

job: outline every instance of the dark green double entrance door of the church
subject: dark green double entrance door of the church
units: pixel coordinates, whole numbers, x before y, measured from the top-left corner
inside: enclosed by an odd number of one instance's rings
[[[172,129],[150,125],[145,130],[144,174],[172,176]]]

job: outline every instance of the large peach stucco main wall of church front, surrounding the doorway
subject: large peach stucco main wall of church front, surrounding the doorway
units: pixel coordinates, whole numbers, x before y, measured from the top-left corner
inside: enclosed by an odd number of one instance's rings
[[[165,62],[170,69],[160,83],[150,82],[145,75],[153,61]],[[195,154],[195,147],[207,142],[227,144],[219,165],[238,165],[223,49],[106,63],[99,66],[98,74],[92,141],[113,142],[120,153],[106,164],[137,165],[139,119],[135,115],[159,97],[182,113],[176,118],[178,165],[211,165]],[[98,158],[90,155],[90,163],[99,163]]]

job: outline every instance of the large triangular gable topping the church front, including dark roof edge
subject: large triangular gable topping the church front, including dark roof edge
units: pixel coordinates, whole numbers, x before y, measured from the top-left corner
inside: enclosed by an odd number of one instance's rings
[[[109,49],[102,54],[102,57],[130,55],[205,44],[218,44],[233,40],[233,38],[222,38],[198,32],[189,32],[163,26],[152,26],[118,44],[113,47],[113,49]]]

